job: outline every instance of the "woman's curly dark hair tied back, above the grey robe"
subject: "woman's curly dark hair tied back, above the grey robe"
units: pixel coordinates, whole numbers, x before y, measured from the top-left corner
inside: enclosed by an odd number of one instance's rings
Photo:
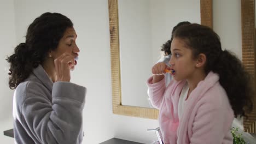
[[[73,27],[72,21],[59,13],[44,13],[31,23],[26,42],[16,46],[14,54],[6,59],[10,63],[10,89],[15,89],[34,68],[44,62],[48,52],[57,48],[69,27]]]

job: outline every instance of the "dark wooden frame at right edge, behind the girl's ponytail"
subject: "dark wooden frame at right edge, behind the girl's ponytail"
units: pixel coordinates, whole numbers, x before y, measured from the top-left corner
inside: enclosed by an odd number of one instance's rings
[[[255,1],[241,0],[241,24],[242,24],[242,62],[246,70],[253,77],[253,88],[256,89],[255,81]],[[248,114],[248,119],[243,118],[243,130],[256,134],[256,98],[253,99],[254,108]]]

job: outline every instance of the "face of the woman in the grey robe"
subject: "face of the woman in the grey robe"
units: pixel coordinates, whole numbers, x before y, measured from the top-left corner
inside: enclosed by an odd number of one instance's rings
[[[77,33],[75,33],[75,29],[73,27],[67,28],[63,37],[61,38],[57,49],[51,51],[51,55],[53,59],[61,56],[63,53],[67,52],[71,56],[78,57],[78,53],[80,52],[75,40],[77,39]],[[74,67],[72,68],[74,69]]]

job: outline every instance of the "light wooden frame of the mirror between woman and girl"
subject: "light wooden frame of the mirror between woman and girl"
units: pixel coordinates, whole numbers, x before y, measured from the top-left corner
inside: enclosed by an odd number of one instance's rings
[[[118,0],[108,0],[110,57],[112,71],[113,113],[132,117],[158,119],[158,110],[147,107],[122,105],[119,58]],[[212,0],[200,1],[201,24],[212,27]],[[146,84],[145,84],[146,85]]]

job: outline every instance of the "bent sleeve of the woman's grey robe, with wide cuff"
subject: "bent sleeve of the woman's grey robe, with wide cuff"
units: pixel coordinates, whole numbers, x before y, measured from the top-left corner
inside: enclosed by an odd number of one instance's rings
[[[51,95],[43,86],[28,82],[21,116],[33,137],[42,143],[80,143],[83,139],[83,107],[86,88],[71,82],[55,82]],[[50,103],[46,97],[52,97]]]

